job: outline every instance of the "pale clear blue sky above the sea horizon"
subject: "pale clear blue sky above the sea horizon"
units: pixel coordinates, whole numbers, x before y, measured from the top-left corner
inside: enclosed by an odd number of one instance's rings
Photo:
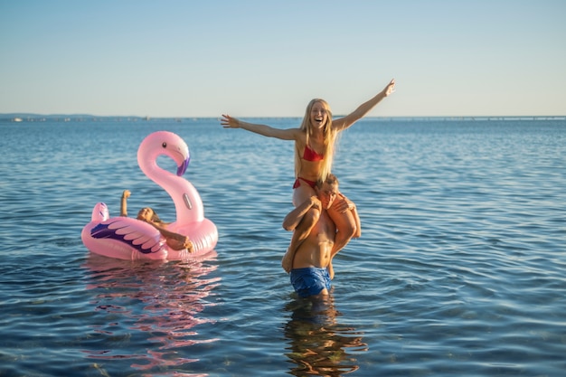
[[[566,115],[566,1],[0,0],[0,113]]]

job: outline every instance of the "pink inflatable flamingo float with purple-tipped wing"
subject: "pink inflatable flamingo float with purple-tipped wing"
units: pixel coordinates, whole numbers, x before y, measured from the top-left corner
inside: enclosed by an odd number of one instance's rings
[[[176,174],[157,165],[157,157],[162,155],[175,161]],[[87,249],[116,259],[184,260],[213,253],[218,242],[216,226],[204,217],[201,195],[182,176],[189,160],[189,148],[184,140],[167,131],[149,135],[137,150],[137,163],[142,172],[163,187],[175,203],[176,220],[167,229],[188,236],[193,242],[193,253],[170,249],[159,231],[145,221],[110,217],[105,203],[94,206],[91,221],[80,234]]]

